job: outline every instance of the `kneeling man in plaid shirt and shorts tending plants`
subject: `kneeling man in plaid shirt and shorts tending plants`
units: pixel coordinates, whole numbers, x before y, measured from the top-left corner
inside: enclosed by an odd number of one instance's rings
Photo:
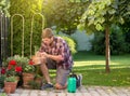
[[[54,37],[50,28],[46,28],[41,37],[41,46],[37,52],[37,56],[40,57],[40,68],[47,81],[47,84],[43,84],[41,90],[53,87],[49,77],[49,69],[56,69],[55,88],[66,88],[67,76],[74,64],[70,50],[66,41],[61,37]]]

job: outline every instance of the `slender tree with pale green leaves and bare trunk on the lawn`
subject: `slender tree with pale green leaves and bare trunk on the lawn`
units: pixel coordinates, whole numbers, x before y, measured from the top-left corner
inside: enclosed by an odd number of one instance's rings
[[[128,16],[128,11],[123,10],[126,13],[120,13],[121,8],[123,8],[122,2],[129,2],[127,0],[92,0],[89,4],[87,11],[81,17],[79,28],[83,28],[89,31],[100,31],[105,30],[105,57],[106,57],[106,72],[109,72],[109,27],[112,24],[123,24],[125,17]],[[129,9],[129,3],[127,3],[126,9]],[[122,5],[122,6],[121,6]],[[127,16],[126,16],[126,15]]]

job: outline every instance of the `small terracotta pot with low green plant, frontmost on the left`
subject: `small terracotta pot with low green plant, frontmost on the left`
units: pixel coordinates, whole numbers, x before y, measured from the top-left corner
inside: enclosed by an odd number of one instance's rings
[[[14,93],[16,90],[17,80],[14,76],[6,77],[4,79],[4,92]]]

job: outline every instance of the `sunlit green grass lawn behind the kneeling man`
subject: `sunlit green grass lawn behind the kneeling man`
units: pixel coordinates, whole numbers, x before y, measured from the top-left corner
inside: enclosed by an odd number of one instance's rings
[[[110,56],[110,73],[105,72],[105,56],[91,52],[74,55],[74,72],[83,76],[83,85],[130,86],[130,54]]]

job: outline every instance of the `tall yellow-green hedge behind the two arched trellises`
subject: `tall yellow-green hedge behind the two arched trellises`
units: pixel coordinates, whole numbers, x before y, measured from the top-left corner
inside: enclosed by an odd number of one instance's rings
[[[30,54],[30,31],[31,31],[31,20],[34,16],[32,24],[32,52],[35,52],[35,46],[40,45],[41,41],[41,30],[42,30],[42,17],[37,14],[41,13],[42,0],[10,0],[11,8],[10,14],[11,17],[14,14],[21,14],[24,16],[24,55],[28,56]],[[23,20],[20,16],[14,16],[13,18],[13,50],[14,54],[22,53],[22,32],[23,32]],[[11,42],[9,33],[9,42]],[[13,55],[14,55],[13,54]]]

